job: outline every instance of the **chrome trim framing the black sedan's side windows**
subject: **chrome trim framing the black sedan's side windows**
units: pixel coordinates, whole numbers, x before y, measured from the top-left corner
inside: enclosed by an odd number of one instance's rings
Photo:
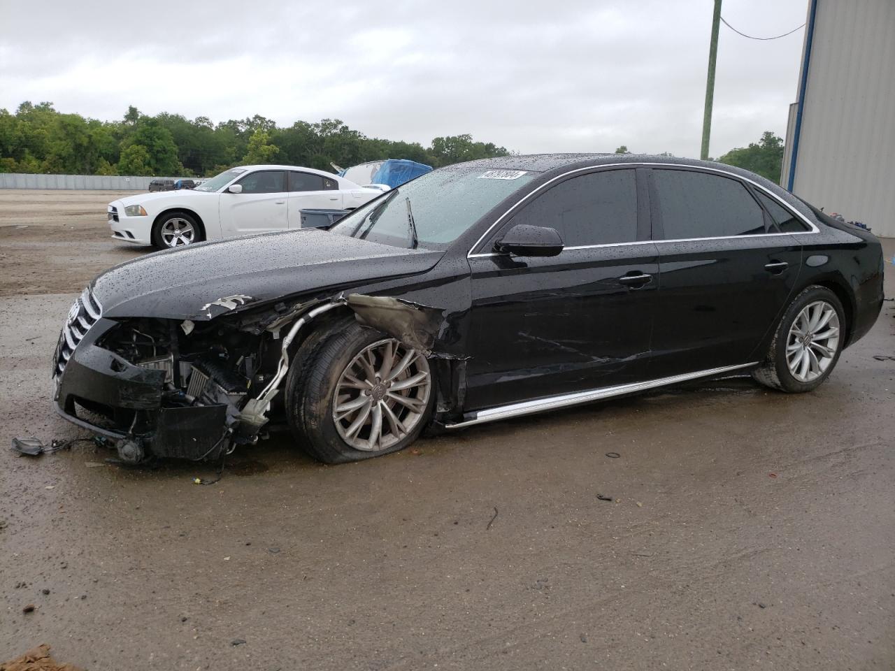
[[[586,171],[597,170],[600,168],[613,168],[613,167],[651,167],[651,168],[652,167],[660,167],[660,168],[661,167],[679,167],[679,168],[686,168],[687,170],[693,170],[695,172],[702,171],[702,172],[706,172],[706,173],[717,173],[717,174],[722,174],[725,176],[733,177],[734,179],[742,180],[743,182],[748,182],[748,183],[752,184],[757,189],[761,189],[763,191],[763,193],[767,194],[768,196],[771,197],[771,199],[780,203],[780,205],[783,208],[785,208],[788,212],[794,214],[796,217],[798,217],[803,222],[805,222],[805,224],[807,224],[811,230],[810,231],[797,231],[796,233],[760,233],[760,234],[754,234],[754,235],[719,235],[717,237],[711,237],[711,238],[674,238],[674,239],[669,239],[669,240],[635,240],[635,241],[631,241],[631,242],[607,242],[605,244],[577,245],[575,247],[566,247],[566,248],[564,248],[563,251],[565,251],[565,250],[590,250],[590,249],[596,249],[599,247],[618,247],[619,245],[623,245],[623,244],[644,244],[646,242],[651,242],[651,243],[654,242],[654,243],[658,244],[660,242],[697,242],[697,241],[703,241],[703,240],[742,240],[744,238],[771,237],[772,235],[809,235],[809,234],[820,233],[820,229],[816,225],[814,225],[811,222],[811,220],[808,219],[808,217],[805,217],[805,215],[803,215],[801,212],[797,211],[796,209],[793,209],[788,204],[788,202],[786,202],[786,200],[782,200],[780,198],[780,196],[778,196],[776,193],[774,193],[770,189],[763,187],[761,184],[755,182],[754,180],[749,179],[748,177],[744,177],[741,174],[731,173],[729,170],[721,170],[720,168],[710,168],[710,167],[703,167],[703,166],[687,166],[686,164],[683,164],[683,163],[608,163],[608,164],[605,164],[602,166],[586,166],[586,167],[582,167],[582,168],[575,168],[575,170],[569,170],[567,173],[558,174],[556,177],[551,179],[549,182],[542,183],[541,186],[537,187],[536,189],[533,189],[533,191],[529,191],[528,193],[526,193],[522,198],[520,198],[519,200],[516,200],[516,202],[513,203],[513,205],[511,205],[507,209],[506,212],[504,212],[502,215],[500,215],[500,217],[498,217],[495,220],[495,222],[488,227],[488,230],[485,231],[479,237],[479,239],[477,241],[475,241],[475,244],[473,244],[473,246],[470,248],[470,250],[466,253],[466,258],[473,259],[473,258],[482,258],[482,257],[490,257],[490,256],[505,256],[505,255],[499,254],[498,252],[493,252],[493,251],[484,251],[484,252],[480,251],[480,252],[473,253],[473,250],[476,249],[480,244],[482,244],[482,241],[484,241],[485,238],[487,238],[490,235],[491,231],[493,231],[497,226],[499,226],[500,224],[503,223],[503,220],[507,217],[507,215],[511,211],[513,211],[513,209],[517,208],[519,205],[524,203],[525,200],[532,198],[535,194],[539,193],[540,191],[546,190],[548,187],[550,187],[550,185],[552,183],[556,182],[557,180],[562,179],[563,177],[567,177],[570,174],[583,173]]]

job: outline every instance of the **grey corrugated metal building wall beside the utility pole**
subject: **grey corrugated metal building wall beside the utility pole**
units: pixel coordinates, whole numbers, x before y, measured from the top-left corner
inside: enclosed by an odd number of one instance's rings
[[[895,0],[817,0],[793,192],[895,237]]]

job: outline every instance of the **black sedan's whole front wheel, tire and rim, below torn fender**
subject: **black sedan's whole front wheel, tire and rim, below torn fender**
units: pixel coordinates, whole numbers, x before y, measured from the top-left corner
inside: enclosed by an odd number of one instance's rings
[[[433,371],[422,352],[351,321],[310,344],[286,381],[286,419],[325,463],[404,449],[429,422]]]

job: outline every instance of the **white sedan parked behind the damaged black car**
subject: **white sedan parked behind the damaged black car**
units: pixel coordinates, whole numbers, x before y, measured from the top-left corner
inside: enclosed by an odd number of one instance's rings
[[[354,209],[380,195],[322,170],[241,166],[192,190],[113,200],[107,216],[115,240],[166,249],[301,228],[303,209]]]

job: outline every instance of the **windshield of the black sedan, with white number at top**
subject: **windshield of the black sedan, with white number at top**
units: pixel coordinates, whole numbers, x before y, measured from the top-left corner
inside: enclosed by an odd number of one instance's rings
[[[524,170],[441,168],[355,209],[329,231],[393,247],[446,250],[533,176]]]

